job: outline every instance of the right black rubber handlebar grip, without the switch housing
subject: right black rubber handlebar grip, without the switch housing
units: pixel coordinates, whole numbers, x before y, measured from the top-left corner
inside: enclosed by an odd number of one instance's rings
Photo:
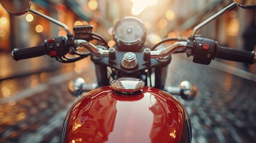
[[[242,63],[254,63],[255,52],[245,51],[241,49],[227,48],[224,46],[217,46],[215,57],[224,60],[238,61]]]

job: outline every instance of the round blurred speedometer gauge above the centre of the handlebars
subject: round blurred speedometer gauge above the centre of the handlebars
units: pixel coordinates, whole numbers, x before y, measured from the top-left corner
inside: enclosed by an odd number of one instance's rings
[[[119,46],[141,46],[145,42],[147,30],[136,17],[125,17],[115,25],[112,35]]]

